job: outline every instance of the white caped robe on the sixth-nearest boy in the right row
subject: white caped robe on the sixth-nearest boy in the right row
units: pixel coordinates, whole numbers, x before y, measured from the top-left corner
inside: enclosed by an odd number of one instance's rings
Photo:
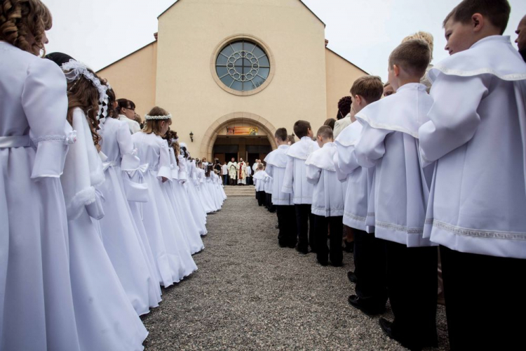
[[[293,195],[281,191],[283,179],[285,178],[285,167],[288,161],[288,148],[288,145],[279,145],[276,150],[270,152],[264,159],[264,161],[267,162],[267,169],[265,171],[274,180],[271,189],[272,204],[277,206],[294,205]]]

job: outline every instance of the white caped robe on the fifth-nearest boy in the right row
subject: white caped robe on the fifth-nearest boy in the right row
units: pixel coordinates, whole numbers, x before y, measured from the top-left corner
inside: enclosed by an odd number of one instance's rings
[[[312,204],[313,185],[306,181],[305,161],[318,150],[318,144],[308,136],[290,145],[287,150],[287,166],[283,178],[282,192],[294,194],[294,204]]]

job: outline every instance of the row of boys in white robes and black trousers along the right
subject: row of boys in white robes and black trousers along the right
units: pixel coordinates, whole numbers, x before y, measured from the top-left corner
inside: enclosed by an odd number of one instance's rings
[[[353,228],[349,303],[377,315],[389,299],[394,320],[379,324],[411,350],[438,342],[439,255],[451,349],[524,347],[526,63],[502,36],[509,14],[506,0],[462,1],[443,22],[450,58],[429,69],[429,44],[404,41],[389,56],[393,94],[357,79],[336,140],[297,121],[299,143],[279,128],[265,159],[280,246],[338,266],[342,223]]]

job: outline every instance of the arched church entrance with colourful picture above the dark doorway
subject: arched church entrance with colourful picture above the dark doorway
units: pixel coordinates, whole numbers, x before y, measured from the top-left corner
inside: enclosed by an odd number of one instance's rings
[[[201,154],[207,159],[229,161],[232,157],[253,164],[276,148],[276,128],[257,114],[234,112],[217,119],[205,133]]]

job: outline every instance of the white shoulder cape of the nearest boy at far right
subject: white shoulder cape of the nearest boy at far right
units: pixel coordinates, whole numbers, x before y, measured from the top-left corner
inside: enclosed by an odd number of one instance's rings
[[[434,82],[441,74],[456,77],[491,74],[502,80],[518,81],[526,79],[526,64],[511,45],[510,37],[494,35],[439,62],[429,70],[429,80]]]

